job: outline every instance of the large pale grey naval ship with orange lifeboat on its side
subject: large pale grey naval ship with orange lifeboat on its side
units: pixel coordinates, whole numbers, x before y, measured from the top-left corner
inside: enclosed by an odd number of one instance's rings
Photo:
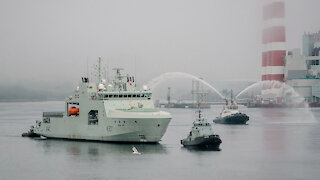
[[[64,112],[44,112],[42,120],[22,136],[159,142],[171,120],[170,113],[154,107],[150,90],[136,90],[133,76],[122,76],[120,68],[115,70],[115,79],[107,87],[82,78],[73,95],[65,99]]]

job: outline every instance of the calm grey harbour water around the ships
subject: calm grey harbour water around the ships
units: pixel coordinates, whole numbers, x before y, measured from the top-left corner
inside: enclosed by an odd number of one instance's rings
[[[247,109],[248,125],[214,124],[221,151],[183,148],[193,109],[173,119],[159,144],[33,140],[21,133],[64,102],[0,103],[0,179],[320,179],[320,109]],[[204,110],[212,122],[222,106]]]

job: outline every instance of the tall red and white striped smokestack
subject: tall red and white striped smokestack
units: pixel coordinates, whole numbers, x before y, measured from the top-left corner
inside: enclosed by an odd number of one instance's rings
[[[262,81],[284,80],[285,42],[284,0],[264,0],[262,32]]]

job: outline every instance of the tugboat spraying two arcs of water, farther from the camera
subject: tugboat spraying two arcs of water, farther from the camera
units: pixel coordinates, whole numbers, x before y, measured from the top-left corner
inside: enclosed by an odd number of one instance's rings
[[[249,121],[249,116],[238,109],[237,103],[233,100],[231,90],[231,103],[229,104],[226,99],[226,107],[223,108],[220,116],[216,117],[213,122],[219,124],[246,124],[247,121]]]

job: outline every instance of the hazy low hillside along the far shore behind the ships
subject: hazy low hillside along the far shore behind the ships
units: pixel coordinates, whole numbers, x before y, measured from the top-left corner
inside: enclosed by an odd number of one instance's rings
[[[253,81],[218,81],[209,82],[221,94],[226,95],[233,89],[234,95],[245,89],[247,86],[253,84]],[[155,99],[166,99],[168,87],[171,87],[172,99],[192,99],[191,95],[191,81],[173,81],[171,83],[163,83],[157,88],[153,89]],[[201,85],[205,89],[206,86]],[[0,101],[47,101],[47,100],[63,100],[70,96],[75,90],[76,85],[71,83],[64,83],[59,85],[44,84],[44,83],[29,83],[23,85],[1,85],[0,86]],[[140,89],[140,86],[137,86]],[[220,99],[216,93],[208,95],[209,99]]]

